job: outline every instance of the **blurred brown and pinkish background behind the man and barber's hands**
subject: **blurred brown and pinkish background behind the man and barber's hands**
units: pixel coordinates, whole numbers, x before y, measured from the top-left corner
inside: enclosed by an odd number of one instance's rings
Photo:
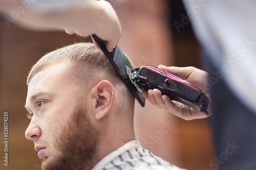
[[[130,0],[123,4],[110,1],[120,18],[123,35],[119,45],[134,65],[195,66],[201,68],[198,44],[189,24],[175,28],[185,14],[180,2],[168,0]],[[170,12],[171,11],[171,12]],[[34,32],[0,19],[1,117],[3,139],[4,111],[9,113],[9,166],[3,164],[4,145],[0,144],[0,169],[40,169],[34,143],[25,138],[29,125],[24,108],[26,77],[31,66],[45,53],[75,42],[91,41],[64,32]],[[15,22],[14,22],[15,23]],[[168,132],[161,127],[170,124]],[[136,136],[143,147],[170,163],[186,169],[213,169],[214,159],[209,118],[186,121],[152,106],[136,104]]]

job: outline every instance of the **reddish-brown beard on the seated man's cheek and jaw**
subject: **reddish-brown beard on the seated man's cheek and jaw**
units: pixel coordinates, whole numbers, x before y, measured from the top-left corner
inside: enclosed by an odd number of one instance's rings
[[[63,127],[55,147],[60,156],[42,162],[42,170],[91,169],[98,133],[90,124],[87,112],[77,105],[67,126]],[[57,134],[56,134],[57,135]]]

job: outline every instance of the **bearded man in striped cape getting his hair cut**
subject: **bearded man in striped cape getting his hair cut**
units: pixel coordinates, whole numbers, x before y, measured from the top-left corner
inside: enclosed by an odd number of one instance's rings
[[[46,54],[27,85],[25,135],[42,169],[180,169],[135,140],[134,97],[94,44]]]

